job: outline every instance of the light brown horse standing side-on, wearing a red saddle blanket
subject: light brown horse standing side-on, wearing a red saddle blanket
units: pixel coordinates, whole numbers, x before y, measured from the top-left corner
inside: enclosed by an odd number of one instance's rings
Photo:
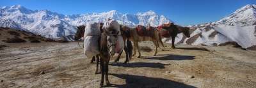
[[[140,41],[152,41],[154,43],[154,45],[156,46],[155,53],[154,53],[154,55],[156,55],[157,54],[157,48],[159,47],[159,42],[163,45],[163,41],[161,40],[161,36],[159,34],[159,31],[157,31],[157,29],[155,27],[149,26],[149,27],[146,28],[144,26],[140,26],[140,27],[142,27],[142,29],[150,29],[150,32],[151,32],[151,33],[148,33],[148,34],[150,34],[150,36],[141,36],[141,35],[139,35],[139,33],[137,31],[138,27],[139,26],[134,27],[134,28],[130,28],[130,27],[127,27],[127,26],[122,26],[120,28],[121,31],[129,31],[129,37],[127,37],[127,38],[128,38],[128,40],[131,40],[134,43],[134,54],[133,54],[133,56],[136,55],[136,49],[139,52],[138,57],[141,56],[139,45],[138,45],[138,43]]]

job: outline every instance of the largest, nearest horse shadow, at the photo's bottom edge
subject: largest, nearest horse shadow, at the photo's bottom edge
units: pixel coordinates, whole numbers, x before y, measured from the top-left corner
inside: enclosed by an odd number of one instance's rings
[[[120,88],[170,88],[170,87],[186,87],[186,88],[196,88],[191,85],[186,85],[180,82],[175,82],[173,80],[168,80],[164,78],[152,78],[138,75],[127,75],[127,74],[115,74],[111,73],[109,75],[113,75],[114,77],[122,78],[125,80],[125,84],[117,85],[111,84],[111,87],[120,87]]]

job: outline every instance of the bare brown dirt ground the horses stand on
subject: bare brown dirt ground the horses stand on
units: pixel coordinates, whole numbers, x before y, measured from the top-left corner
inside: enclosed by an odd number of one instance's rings
[[[148,45],[148,43],[141,43]],[[167,45],[167,44],[166,44]],[[0,50],[0,87],[99,87],[77,43],[12,44]],[[177,45],[109,66],[111,87],[256,87],[256,52]]]

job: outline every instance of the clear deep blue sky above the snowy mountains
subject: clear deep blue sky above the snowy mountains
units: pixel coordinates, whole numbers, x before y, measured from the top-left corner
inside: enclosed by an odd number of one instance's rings
[[[64,15],[117,10],[137,13],[152,10],[177,24],[214,22],[256,0],[0,0],[0,6],[20,4],[31,10],[51,10]]]

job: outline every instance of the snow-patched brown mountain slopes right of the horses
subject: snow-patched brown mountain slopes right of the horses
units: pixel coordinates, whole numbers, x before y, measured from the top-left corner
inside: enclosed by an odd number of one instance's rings
[[[220,45],[235,41],[243,48],[252,47],[256,45],[256,5],[246,5],[216,22],[189,27],[191,38],[185,38],[183,34],[179,34],[176,43]]]

